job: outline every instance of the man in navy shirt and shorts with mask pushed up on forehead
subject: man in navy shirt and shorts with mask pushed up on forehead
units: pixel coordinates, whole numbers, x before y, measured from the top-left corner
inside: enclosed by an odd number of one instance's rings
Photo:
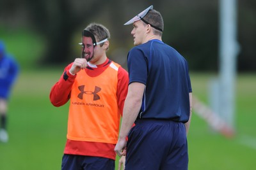
[[[188,169],[188,63],[163,43],[163,18],[153,6],[125,23],[129,24],[135,46],[127,57],[129,90],[115,151],[126,154],[126,170]]]

